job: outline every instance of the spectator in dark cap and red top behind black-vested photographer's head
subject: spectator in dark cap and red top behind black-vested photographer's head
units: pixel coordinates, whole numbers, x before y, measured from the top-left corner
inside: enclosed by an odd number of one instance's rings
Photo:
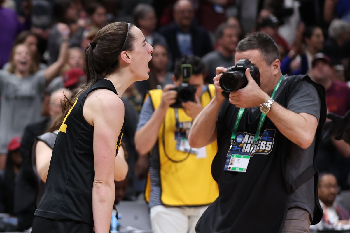
[[[262,18],[258,23],[257,31],[269,35],[278,46],[280,57],[283,58],[289,52],[289,45],[283,37],[278,33],[279,21],[273,15],[270,14],[265,18]]]

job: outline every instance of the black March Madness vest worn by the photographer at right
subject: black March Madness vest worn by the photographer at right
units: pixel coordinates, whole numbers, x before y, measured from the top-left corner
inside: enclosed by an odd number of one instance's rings
[[[290,96],[303,80],[313,84],[321,100],[321,113],[314,150],[315,160],[326,115],[323,86],[314,83],[308,76],[289,77],[275,101],[286,107]],[[239,108],[230,104],[228,100],[225,100],[221,106],[217,121],[218,152],[211,167],[212,176],[219,185],[219,197],[203,213],[197,223],[196,232],[281,232],[290,194],[313,176],[315,176],[315,210],[312,224],[318,223],[322,218],[322,209],[318,202],[316,169],[311,166],[292,183],[287,183],[285,155],[289,153],[292,142],[278,131],[268,117],[265,119],[260,134],[259,148],[261,151],[251,157],[247,172],[224,171],[226,154],[230,148],[231,133],[238,111]],[[247,132],[254,136],[259,118],[260,111],[253,114],[250,109],[246,109],[238,132]]]

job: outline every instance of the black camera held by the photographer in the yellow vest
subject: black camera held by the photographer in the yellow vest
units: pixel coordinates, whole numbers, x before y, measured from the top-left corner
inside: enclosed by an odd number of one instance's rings
[[[192,65],[182,64],[181,65],[181,76],[183,83],[180,87],[175,87],[176,90],[176,102],[170,105],[171,108],[182,108],[182,102],[192,101],[195,102],[196,87],[188,84],[192,76]]]

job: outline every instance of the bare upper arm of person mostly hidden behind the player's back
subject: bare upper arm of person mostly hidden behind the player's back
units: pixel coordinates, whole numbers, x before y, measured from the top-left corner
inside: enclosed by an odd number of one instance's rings
[[[49,172],[52,149],[43,141],[38,141],[35,146],[36,170],[44,183]]]

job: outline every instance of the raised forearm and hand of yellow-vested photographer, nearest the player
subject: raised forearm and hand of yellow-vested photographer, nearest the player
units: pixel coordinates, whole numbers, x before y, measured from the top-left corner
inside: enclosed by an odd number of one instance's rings
[[[152,150],[158,138],[158,131],[163,123],[169,106],[176,102],[176,91],[170,90],[174,86],[166,85],[159,107],[153,112],[148,122],[135,133],[135,146],[140,155],[146,155]],[[142,114],[142,110],[141,110]]]

